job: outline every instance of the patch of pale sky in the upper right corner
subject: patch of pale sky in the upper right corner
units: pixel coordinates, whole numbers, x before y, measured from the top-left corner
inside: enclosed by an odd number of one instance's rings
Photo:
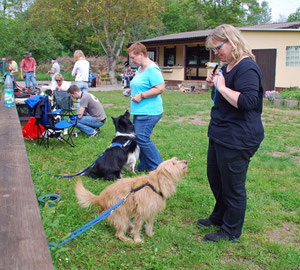
[[[261,3],[263,0],[259,0]],[[297,8],[300,7],[300,0],[265,0],[268,2],[269,7],[272,9],[272,20],[276,22],[279,20],[280,15],[287,17],[291,13],[295,13]]]

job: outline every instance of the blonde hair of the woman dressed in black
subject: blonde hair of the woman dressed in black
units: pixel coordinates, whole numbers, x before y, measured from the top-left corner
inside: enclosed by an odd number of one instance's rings
[[[232,58],[234,61],[239,60],[244,55],[251,57],[255,61],[255,56],[246,39],[239,30],[230,24],[221,24],[216,27],[206,39],[206,48],[215,48],[214,41],[229,42],[232,46]]]

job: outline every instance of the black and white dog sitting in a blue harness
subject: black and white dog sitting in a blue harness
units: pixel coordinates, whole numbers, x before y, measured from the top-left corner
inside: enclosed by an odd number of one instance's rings
[[[130,121],[130,113],[126,111],[117,118],[112,117],[112,120],[116,129],[115,137],[111,147],[85,173],[92,178],[119,179],[124,167],[134,173],[140,148],[135,140],[134,125]]]

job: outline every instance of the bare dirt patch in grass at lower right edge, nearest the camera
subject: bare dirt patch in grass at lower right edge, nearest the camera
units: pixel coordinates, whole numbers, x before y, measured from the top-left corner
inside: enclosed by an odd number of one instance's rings
[[[273,242],[299,247],[299,237],[297,237],[299,229],[291,222],[284,223],[281,228],[266,232],[266,235]]]

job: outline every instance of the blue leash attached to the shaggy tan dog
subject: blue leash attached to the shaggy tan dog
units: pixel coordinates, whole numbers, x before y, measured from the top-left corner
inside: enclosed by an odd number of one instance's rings
[[[94,225],[96,225],[97,223],[99,223],[101,220],[107,218],[111,212],[113,210],[115,210],[117,207],[119,207],[127,198],[127,196],[130,193],[128,193],[122,200],[120,200],[117,204],[115,204],[113,207],[111,207],[110,209],[106,210],[104,213],[102,213],[100,216],[96,217],[95,219],[93,219],[92,221],[90,221],[89,223],[85,224],[84,226],[80,227],[79,229],[75,230],[74,232],[70,233],[70,235],[68,236],[68,238],[59,243],[57,246],[55,246],[55,243],[53,244],[48,244],[48,247],[51,247],[51,250],[57,249],[59,246],[64,245],[65,243],[68,243],[69,241],[71,241],[73,238],[75,238],[76,236],[82,234],[83,232],[85,232],[86,230],[90,229],[91,227],[93,227]]]

